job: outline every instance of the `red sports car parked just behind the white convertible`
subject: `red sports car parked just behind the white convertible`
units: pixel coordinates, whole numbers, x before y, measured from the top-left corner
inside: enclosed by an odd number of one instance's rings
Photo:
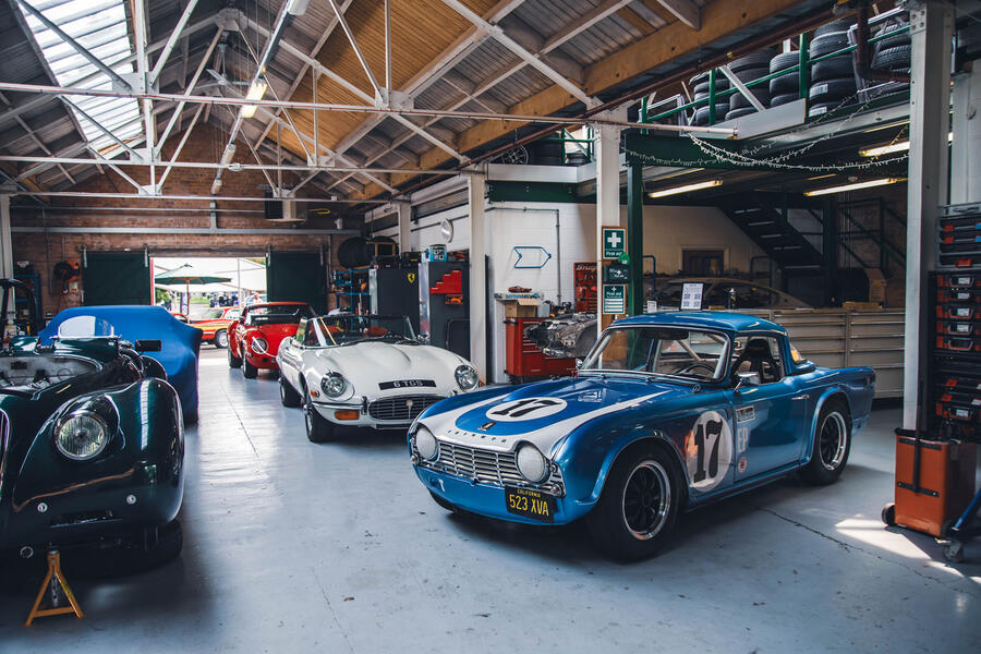
[[[313,318],[305,302],[265,302],[242,310],[228,327],[228,365],[241,367],[252,379],[261,368],[278,371],[276,353],[284,338],[292,338],[303,318]]]

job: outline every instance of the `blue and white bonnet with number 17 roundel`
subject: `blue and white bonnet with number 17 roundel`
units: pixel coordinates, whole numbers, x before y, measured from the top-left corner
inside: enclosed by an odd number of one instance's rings
[[[645,379],[578,377],[517,388],[476,404],[424,417],[440,440],[510,451],[532,443],[545,453],[585,423],[650,402],[666,402],[691,389]]]

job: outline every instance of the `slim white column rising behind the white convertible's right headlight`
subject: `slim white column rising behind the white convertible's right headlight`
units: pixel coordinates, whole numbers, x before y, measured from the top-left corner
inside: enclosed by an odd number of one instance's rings
[[[470,361],[477,374],[487,377],[487,222],[484,195],[487,181],[482,174],[468,178],[470,205]],[[399,214],[401,220],[401,213]],[[401,232],[401,225],[399,225]]]

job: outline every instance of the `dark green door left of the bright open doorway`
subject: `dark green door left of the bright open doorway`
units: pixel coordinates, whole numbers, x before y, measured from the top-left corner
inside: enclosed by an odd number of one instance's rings
[[[149,261],[140,252],[86,252],[82,257],[82,303],[153,304]]]

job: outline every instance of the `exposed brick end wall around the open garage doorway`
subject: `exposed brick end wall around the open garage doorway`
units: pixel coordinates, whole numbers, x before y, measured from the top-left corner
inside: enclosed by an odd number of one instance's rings
[[[181,135],[174,134],[165,147],[164,158],[172,154]],[[220,156],[228,138],[227,133],[219,133],[210,125],[198,125],[187,141],[181,160],[215,161]],[[216,154],[217,153],[217,154]],[[244,143],[238,144],[235,161],[255,162]],[[145,168],[125,167],[126,174],[141,184],[149,183],[149,171]],[[162,169],[157,169],[157,175]],[[164,186],[165,194],[172,195],[210,195],[213,169],[174,168]],[[274,175],[274,180],[275,180]],[[283,173],[283,183],[294,183],[292,173]],[[259,171],[242,171],[222,173],[223,185],[220,196],[262,197],[261,184],[267,184]],[[102,168],[102,174],[82,182],[76,191],[99,193],[133,193],[133,186],[114,171]],[[98,197],[52,197],[51,209],[40,211],[33,203],[19,199],[11,207],[11,221],[14,227],[148,227],[148,228],[204,228],[210,227],[210,215],[207,201],[153,199],[153,198],[98,198]],[[29,261],[36,271],[41,275],[45,313],[53,313],[65,306],[80,304],[78,293],[62,295],[61,286],[52,280],[51,268],[62,259],[81,261],[84,246],[88,251],[98,250],[143,250],[147,247],[157,256],[262,256],[267,247],[276,250],[318,250],[329,249],[332,241],[330,269],[337,266],[337,246],[344,237],[315,237],[307,234],[221,234],[221,229],[289,229],[296,223],[270,222],[263,217],[262,203],[218,201],[216,203],[218,233],[214,234],[146,234],[146,233],[14,233],[13,254],[15,261]],[[59,208],[59,207],[70,207]],[[73,210],[76,207],[89,207],[85,210]],[[168,207],[175,209],[196,209],[196,211],[143,211],[144,208]],[[98,210],[104,208],[105,210]],[[120,209],[122,208],[122,210]],[[306,229],[330,229],[334,220],[328,217],[312,216],[299,227]],[[334,299],[328,302],[332,305]]]

